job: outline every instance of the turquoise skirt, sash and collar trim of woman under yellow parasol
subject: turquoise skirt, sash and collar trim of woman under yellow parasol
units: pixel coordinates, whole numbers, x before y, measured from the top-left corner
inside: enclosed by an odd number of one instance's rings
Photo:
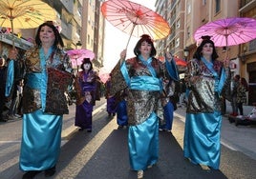
[[[50,50],[47,56],[44,56],[41,49],[42,72],[26,75],[26,85],[40,91],[42,108],[23,114],[19,167],[24,171],[53,168],[60,153],[63,115],[44,113],[48,79],[45,67],[52,51]]]

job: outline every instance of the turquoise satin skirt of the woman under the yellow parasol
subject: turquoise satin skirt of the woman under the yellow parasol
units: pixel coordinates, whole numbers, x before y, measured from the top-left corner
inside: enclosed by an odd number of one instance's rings
[[[38,109],[24,114],[19,166],[22,170],[44,170],[56,165],[60,153],[62,115]]]

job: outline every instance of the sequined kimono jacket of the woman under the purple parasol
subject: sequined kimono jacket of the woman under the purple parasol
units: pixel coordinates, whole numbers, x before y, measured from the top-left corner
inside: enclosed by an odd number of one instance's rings
[[[217,72],[220,79],[224,69],[223,62],[215,60],[213,69]],[[225,80],[224,88],[221,93],[215,91],[215,77],[213,73],[207,69],[202,60],[192,59],[187,64],[185,74],[186,86],[189,89],[188,105],[186,111],[188,113],[211,113],[213,111],[221,111],[222,100],[221,95],[225,89],[230,86],[230,70],[224,69]]]

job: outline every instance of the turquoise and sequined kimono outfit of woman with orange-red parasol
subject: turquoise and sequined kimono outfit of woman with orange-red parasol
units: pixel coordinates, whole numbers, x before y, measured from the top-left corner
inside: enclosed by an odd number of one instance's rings
[[[134,170],[147,169],[159,160],[159,111],[162,111],[159,106],[162,90],[159,70],[151,65],[152,58],[145,61],[139,55],[139,60],[144,66],[140,62],[129,64],[128,60],[128,64],[123,63],[120,68],[128,86],[128,149],[130,166]],[[161,70],[166,71],[166,75],[179,79],[173,61],[164,65]],[[136,71],[134,75],[130,75],[131,70]]]

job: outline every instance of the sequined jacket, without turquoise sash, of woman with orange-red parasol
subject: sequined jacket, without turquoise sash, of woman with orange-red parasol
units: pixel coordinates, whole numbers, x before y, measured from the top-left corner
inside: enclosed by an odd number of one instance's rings
[[[126,60],[125,64],[130,78],[136,76],[151,76],[150,71],[136,57]],[[156,71],[158,78],[169,77],[164,63],[161,63],[158,59],[153,58],[151,65]],[[126,99],[128,125],[134,126],[142,123],[150,116],[153,111],[157,113],[160,119],[163,119],[160,91],[147,89],[129,89],[120,71],[119,64],[117,64],[111,73],[111,95],[115,95],[117,92],[123,89],[126,89],[127,92]]]

